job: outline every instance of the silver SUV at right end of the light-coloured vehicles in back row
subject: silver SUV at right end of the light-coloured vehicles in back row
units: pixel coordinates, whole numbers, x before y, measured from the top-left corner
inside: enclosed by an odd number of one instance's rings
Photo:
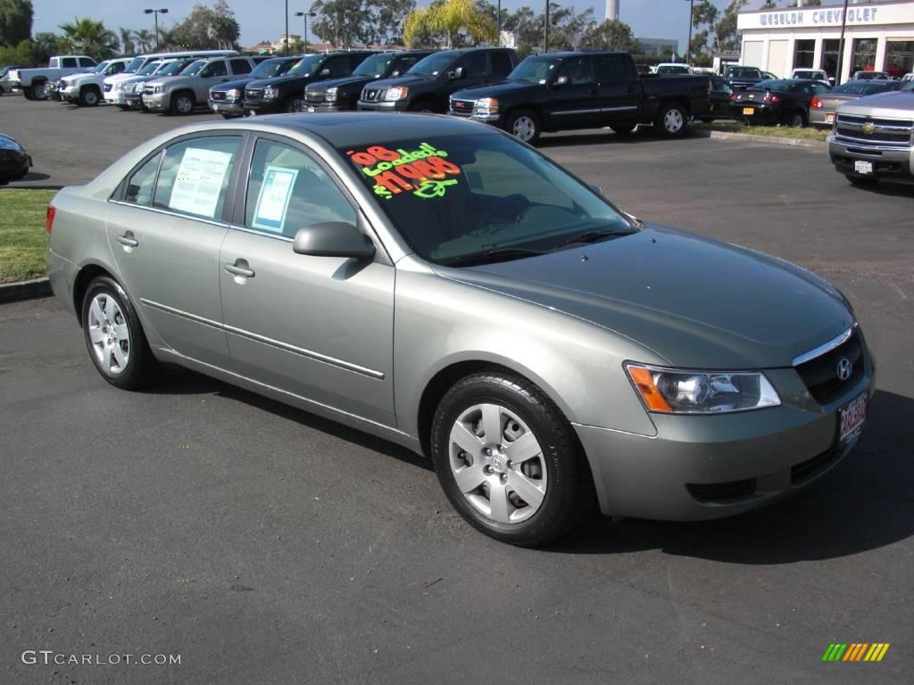
[[[209,89],[250,74],[266,57],[198,59],[178,76],[152,79],[143,84],[143,106],[151,111],[190,114],[206,107]]]

